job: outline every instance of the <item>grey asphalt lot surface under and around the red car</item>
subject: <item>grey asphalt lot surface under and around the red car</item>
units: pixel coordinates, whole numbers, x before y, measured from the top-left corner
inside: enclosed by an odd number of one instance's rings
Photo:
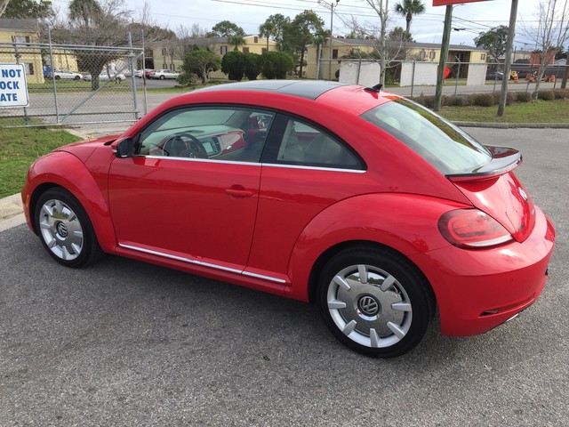
[[[20,225],[0,232],[0,425],[566,425],[567,131],[467,131],[522,150],[557,228],[517,320],[368,359],[316,307],[115,256],[69,270]]]

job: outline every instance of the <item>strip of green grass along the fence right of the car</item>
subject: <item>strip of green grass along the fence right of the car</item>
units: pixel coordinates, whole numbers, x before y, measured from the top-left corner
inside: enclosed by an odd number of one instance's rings
[[[569,100],[517,102],[506,106],[502,117],[497,116],[497,105],[443,107],[438,113],[453,122],[569,124]]]

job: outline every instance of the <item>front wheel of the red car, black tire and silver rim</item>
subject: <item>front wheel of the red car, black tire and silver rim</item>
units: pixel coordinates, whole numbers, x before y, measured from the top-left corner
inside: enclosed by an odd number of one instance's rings
[[[103,254],[83,206],[66,189],[46,190],[37,200],[34,221],[47,253],[66,267],[84,267]]]

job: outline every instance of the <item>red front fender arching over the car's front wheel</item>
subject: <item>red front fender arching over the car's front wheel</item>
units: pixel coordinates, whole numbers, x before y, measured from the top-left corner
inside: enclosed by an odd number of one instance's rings
[[[76,197],[92,222],[101,249],[104,252],[114,252],[116,237],[108,203],[84,163],[65,151],[54,151],[40,157],[28,171],[28,179],[21,195],[30,229],[37,232],[33,220],[37,198],[44,189],[54,186],[67,189]]]

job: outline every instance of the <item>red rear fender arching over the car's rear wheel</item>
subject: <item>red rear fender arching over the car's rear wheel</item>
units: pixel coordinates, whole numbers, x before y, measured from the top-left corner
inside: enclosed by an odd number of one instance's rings
[[[329,206],[309,222],[296,241],[288,271],[292,286],[286,293],[309,301],[313,268],[322,266],[346,245],[389,246],[407,257],[448,246],[438,232],[438,219],[451,209],[463,207],[467,206],[401,193],[351,197]]]

